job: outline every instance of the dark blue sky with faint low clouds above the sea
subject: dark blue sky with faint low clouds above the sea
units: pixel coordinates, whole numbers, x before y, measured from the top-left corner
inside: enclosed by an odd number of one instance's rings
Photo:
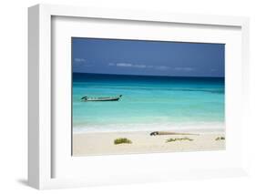
[[[73,72],[224,77],[225,45],[72,38]]]

